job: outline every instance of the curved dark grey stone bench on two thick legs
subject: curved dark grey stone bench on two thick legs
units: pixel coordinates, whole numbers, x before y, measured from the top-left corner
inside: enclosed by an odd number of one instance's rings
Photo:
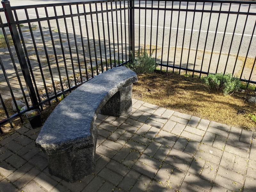
[[[99,113],[122,116],[132,110],[136,74],[126,67],[110,69],[72,91],[45,121],[36,146],[48,155],[49,172],[75,182],[94,172]]]

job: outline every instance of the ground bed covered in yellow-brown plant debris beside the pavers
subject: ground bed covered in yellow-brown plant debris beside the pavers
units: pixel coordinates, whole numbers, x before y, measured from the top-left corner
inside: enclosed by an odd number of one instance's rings
[[[245,97],[253,92],[234,92],[224,96],[221,92],[209,92],[200,78],[154,72],[138,76],[133,85],[133,97],[181,113],[211,121],[254,130],[256,123],[249,114],[256,113],[256,104]]]

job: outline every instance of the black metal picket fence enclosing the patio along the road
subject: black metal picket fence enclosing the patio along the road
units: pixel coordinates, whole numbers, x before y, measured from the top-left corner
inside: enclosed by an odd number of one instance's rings
[[[231,73],[256,84],[256,2],[2,4],[0,125],[58,102],[138,49],[152,53],[160,70]]]

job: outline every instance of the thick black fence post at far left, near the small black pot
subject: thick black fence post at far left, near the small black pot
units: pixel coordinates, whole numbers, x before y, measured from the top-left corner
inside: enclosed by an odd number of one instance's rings
[[[24,80],[26,82],[26,86],[28,89],[28,93],[29,93],[32,105],[37,106],[38,101],[36,98],[36,92],[35,92],[34,86],[32,84],[32,80],[30,78],[28,65],[26,62],[26,58],[25,58],[21,43],[20,43],[20,36],[19,36],[18,30],[16,28],[16,24],[14,23],[15,20],[14,20],[13,14],[12,14],[10,1],[2,0],[2,5],[5,8],[5,10],[4,10],[5,17],[6,17],[7,22],[9,23],[9,30],[10,30],[10,33],[12,36],[12,41],[13,41],[13,44],[14,44],[14,47],[15,47],[15,50],[17,53],[17,57],[20,62],[20,68],[21,68],[22,74],[24,76]]]

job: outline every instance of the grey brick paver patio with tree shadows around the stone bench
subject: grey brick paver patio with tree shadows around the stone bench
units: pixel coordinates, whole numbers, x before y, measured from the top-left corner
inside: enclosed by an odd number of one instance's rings
[[[76,183],[48,172],[40,128],[0,141],[0,191],[256,191],[256,133],[133,100],[130,114],[98,115],[96,170]]]

